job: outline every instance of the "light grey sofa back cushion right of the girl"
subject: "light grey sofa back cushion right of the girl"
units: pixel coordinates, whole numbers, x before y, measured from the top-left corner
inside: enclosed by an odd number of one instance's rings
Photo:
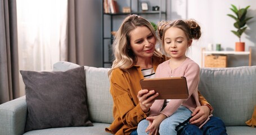
[[[199,91],[227,126],[246,125],[256,105],[256,66],[201,68]]]

